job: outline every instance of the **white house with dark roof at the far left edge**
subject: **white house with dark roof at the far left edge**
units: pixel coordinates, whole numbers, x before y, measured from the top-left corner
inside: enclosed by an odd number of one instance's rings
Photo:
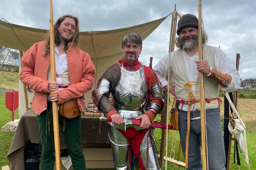
[[[11,49],[12,50],[12,49]],[[11,51],[10,48],[0,46],[0,65],[19,66],[18,50]]]

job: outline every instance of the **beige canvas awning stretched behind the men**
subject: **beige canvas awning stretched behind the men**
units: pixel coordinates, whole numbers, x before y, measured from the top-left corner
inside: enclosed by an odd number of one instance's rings
[[[118,60],[123,57],[121,41],[128,32],[137,32],[142,37],[142,40],[144,40],[166,18],[167,16],[148,23],[131,26],[129,28],[81,32],[80,49],[90,54],[91,60],[96,68],[96,78],[92,90],[96,88],[97,81],[104,71],[113,63],[117,63]],[[42,41],[47,31],[48,30],[46,29],[37,29],[11,24],[5,21],[5,19],[1,19],[0,45],[25,52],[35,42]],[[85,95],[85,99],[89,103],[92,102],[91,91]],[[21,116],[26,112],[24,89],[21,82],[19,86],[19,94],[19,115]],[[28,102],[31,102],[32,97],[33,96],[28,96]]]

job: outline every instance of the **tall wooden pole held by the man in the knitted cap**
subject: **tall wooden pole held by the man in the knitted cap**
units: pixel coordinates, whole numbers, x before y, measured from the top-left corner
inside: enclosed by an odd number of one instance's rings
[[[201,13],[201,0],[198,1],[198,40],[199,40],[199,60],[203,59],[202,53],[202,13]],[[208,170],[208,158],[207,158],[207,136],[206,136],[206,121],[205,121],[205,97],[204,97],[204,75],[199,72],[200,81],[200,110],[201,110],[201,138],[202,138],[202,162],[203,170]]]

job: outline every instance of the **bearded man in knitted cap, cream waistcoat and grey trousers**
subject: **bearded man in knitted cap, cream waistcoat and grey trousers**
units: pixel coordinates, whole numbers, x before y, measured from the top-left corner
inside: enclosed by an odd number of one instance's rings
[[[179,135],[187,170],[202,170],[199,72],[204,75],[205,118],[209,170],[225,170],[225,150],[220,121],[218,89],[233,92],[240,86],[240,76],[227,55],[206,45],[202,32],[204,60],[199,60],[198,19],[191,14],[178,21],[176,46],[153,68],[161,84],[178,100]],[[170,60],[169,60],[170,58]],[[174,85],[166,76],[173,76]],[[186,148],[187,147],[187,148]]]

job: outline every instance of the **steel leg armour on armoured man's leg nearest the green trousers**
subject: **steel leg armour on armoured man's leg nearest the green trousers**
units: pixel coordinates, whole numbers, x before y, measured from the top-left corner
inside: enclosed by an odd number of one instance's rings
[[[108,131],[109,140],[112,148],[112,158],[114,161],[114,168],[116,170],[129,170],[129,161],[128,161],[128,153],[129,153],[129,142],[124,137],[124,135],[109,126]]]

